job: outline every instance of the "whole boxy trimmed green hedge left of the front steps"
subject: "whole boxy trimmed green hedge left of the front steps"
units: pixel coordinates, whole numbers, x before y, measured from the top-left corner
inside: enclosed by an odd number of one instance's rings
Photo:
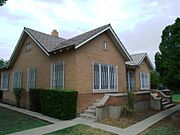
[[[62,120],[76,117],[77,91],[44,89],[30,91],[30,109]]]

